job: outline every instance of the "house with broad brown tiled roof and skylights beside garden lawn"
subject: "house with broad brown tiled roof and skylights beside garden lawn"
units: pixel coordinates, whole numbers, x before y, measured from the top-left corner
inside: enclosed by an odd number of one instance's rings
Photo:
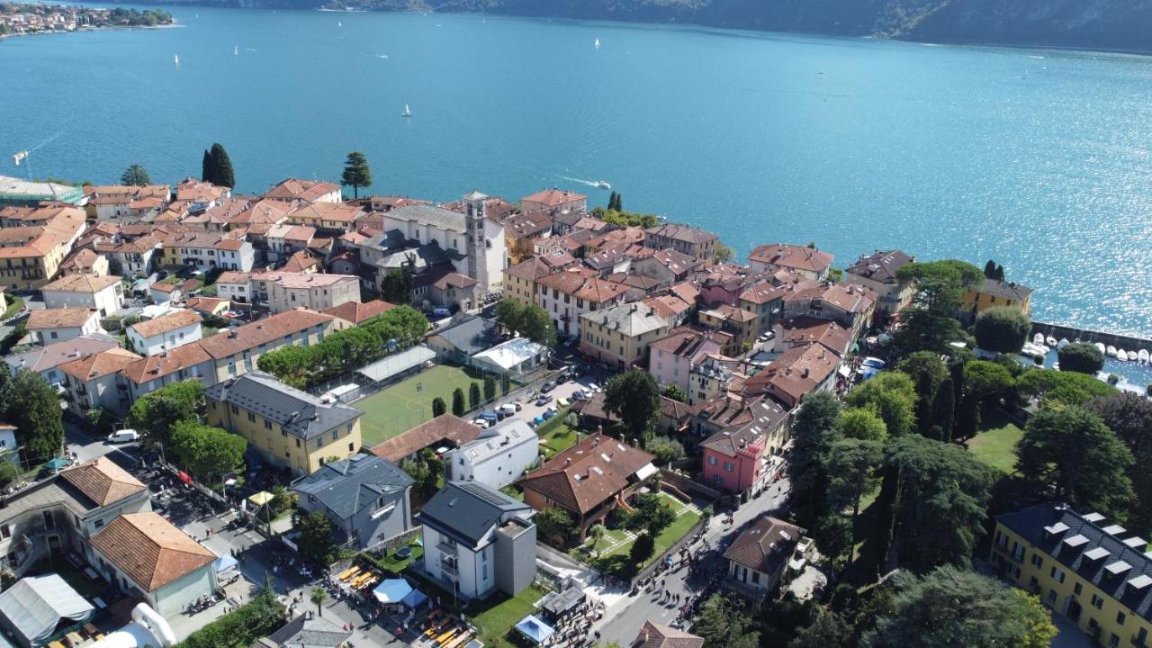
[[[659,470],[653,457],[604,434],[591,435],[521,477],[524,502],[537,511],[560,507],[581,540],[622,503],[632,503]]]

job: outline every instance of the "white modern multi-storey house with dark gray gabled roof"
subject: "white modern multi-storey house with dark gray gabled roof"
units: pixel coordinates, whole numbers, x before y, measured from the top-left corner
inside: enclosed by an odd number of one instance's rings
[[[424,504],[424,572],[464,598],[515,596],[536,578],[532,508],[479,482],[448,482]]]

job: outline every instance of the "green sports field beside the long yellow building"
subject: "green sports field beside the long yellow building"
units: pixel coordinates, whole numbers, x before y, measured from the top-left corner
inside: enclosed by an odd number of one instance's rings
[[[472,382],[484,389],[483,377],[472,377],[460,367],[437,364],[356,401],[354,405],[364,410],[361,419],[364,445],[371,447],[431,420],[432,399],[435,397],[442,398],[448,412],[452,412],[452,392],[456,387],[463,390],[467,404],[468,386]],[[417,392],[417,385],[424,385],[424,389]]]

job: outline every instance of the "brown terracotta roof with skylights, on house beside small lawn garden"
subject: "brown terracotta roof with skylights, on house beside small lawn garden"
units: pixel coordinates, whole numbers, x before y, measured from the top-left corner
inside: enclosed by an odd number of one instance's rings
[[[653,457],[604,434],[592,435],[520,480],[583,515],[624,489]]]

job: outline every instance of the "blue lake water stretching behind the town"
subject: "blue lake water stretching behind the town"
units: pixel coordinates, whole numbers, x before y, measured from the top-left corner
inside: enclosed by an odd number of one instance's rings
[[[363,150],[373,191],[435,199],[560,184],[602,204],[578,182],[602,179],[626,208],[713,229],[742,254],[817,241],[841,264],[878,247],[992,257],[1036,288],[1037,319],[1152,333],[1149,58],[173,13],[183,27],[0,44],[0,153],[63,130],[33,152],[38,175],[108,182],[139,163],[172,182],[219,141],[240,189],[260,191],[336,179]]]

